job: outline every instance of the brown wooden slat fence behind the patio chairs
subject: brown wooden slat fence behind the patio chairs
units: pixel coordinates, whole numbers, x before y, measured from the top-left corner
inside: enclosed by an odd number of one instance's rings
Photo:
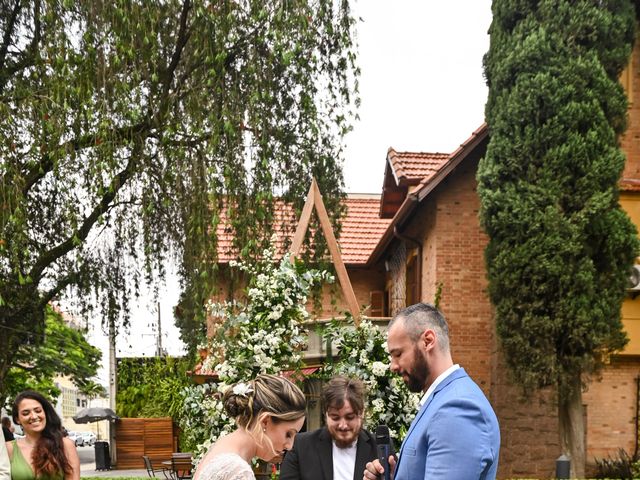
[[[122,418],[116,422],[118,469],[144,468],[142,455],[155,461],[170,460],[177,446],[177,428],[171,417]]]

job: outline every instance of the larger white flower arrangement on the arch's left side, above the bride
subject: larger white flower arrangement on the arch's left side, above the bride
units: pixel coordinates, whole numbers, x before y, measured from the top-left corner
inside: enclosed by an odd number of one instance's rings
[[[308,296],[316,285],[332,282],[333,277],[326,271],[292,265],[288,257],[279,261],[274,257],[274,250],[267,249],[255,264],[231,263],[250,279],[246,303],[207,305],[222,323],[206,346],[209,356],[203,361],[201,372],[216,374],[219,382],[188,388],[181,425],[197,457],[235,427],[222,405],[227,388],[237,382],[249,382],[262,373],[277,374],[302,367],[302,350],[308,341],[303,326],[309,317]]]

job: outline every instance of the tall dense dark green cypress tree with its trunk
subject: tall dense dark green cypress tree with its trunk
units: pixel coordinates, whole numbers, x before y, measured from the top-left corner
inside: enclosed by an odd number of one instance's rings
[[[563,453],[584,470],[582,388],[627,338],[636,229],[621,209],[618,82],[629,0],[494,0],[485,56],[490,142],[478,171],[497,331],[515,380],[555,386]]]

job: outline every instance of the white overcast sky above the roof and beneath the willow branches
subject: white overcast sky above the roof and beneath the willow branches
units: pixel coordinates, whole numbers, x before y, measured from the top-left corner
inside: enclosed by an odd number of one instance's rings
[[[360,121],[346,138],[348,192],[380,193],[387,149],[454,151],[484,121],[487,97],[482,56],[489,48],[490,0],[356,0]],[[176,285],[175,278],[168,282]],[[161,292],[163,346],[182,353],[173,325],[178,289]],[[141,305],[132,335],[117,342],[118,356],[153,356],[157,308]],[[90,341],[106,349],[94,326]],[[108,363],[108,350],[104,364]],[[106,373],[100,375],[106,381]]]

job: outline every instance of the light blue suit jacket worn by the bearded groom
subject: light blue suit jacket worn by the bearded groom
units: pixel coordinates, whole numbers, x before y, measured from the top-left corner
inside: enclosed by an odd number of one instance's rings
[[[402,443],[394,480],[494,479],[499,450],[493,408],[459,368],[418,411]]]

